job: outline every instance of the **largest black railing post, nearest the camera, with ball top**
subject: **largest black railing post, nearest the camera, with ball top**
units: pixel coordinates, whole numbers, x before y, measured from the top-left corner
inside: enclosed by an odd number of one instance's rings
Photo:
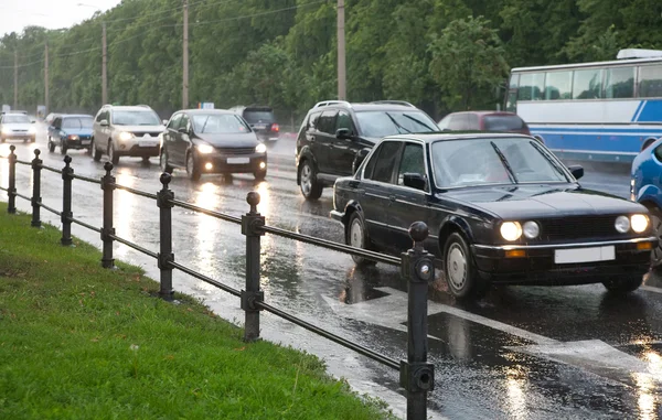
[[[407,390],[407,420],[427,419],[427,392],[435,387],[435,366],[427,363],[427,291],[435,279],[433,256],[423,248],[428,227],[409,227],[414,248],[402,254],[401,273],[408,280],[407,360],[401,360],[401,386]]]

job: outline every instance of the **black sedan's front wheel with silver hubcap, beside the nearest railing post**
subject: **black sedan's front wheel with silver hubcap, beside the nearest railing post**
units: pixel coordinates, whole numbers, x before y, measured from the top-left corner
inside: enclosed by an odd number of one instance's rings
[[[488,291],[487,282],[477,272],[467,240],[457,231],[446,239],[444,274],[448,290],[458,299],[480,299]]]

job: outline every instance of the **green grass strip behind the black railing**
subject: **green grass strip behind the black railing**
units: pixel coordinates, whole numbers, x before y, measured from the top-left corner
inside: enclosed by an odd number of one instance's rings
[[[243,330],[0,203],[0,418],[381,419],[317,357]],[[238,302],[237,302],[238,304]]]

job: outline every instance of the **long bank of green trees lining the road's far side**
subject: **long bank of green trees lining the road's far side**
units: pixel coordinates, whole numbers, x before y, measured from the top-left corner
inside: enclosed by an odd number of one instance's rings
[[[181,8],[181,0],[122,1],[68,30],[26,28],[4,35],[0,103],[13,104],[14,50],[19,106],[43,103],[47,40],[51,108],[96,112],[105,21],[109,101],[149,104],[168,117],[182,106]],[[611,60],[623,47],[662,49],[660,15],[659,0],[346,0],[348,96],[409,100],[435,117],[468,106],[492,108],[492,86],[504,82],[506,66]],[[261,103],[299,120],[314,103],[337,97],[335,1],[199,0],[191,2],[189,24],[186,106]],[[487,50],[476,40],[470,47],[453,32],[472,30]],[[450,54],[440,45],[451,44],[471,51],[471,63],[467,57],[462,64],[440,62]],[[441,77],[468,65],[470,72],[460,73],[478,84],[463,77],[456,79],[463,85],[453,85]]]

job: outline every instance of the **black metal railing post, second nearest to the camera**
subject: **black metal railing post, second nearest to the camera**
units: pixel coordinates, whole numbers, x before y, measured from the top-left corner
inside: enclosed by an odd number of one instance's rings
[[[259,194],[252,191],[246,195],[250,204],[250,212],[242,216],[242,234],[246,236],[246,290],[242,290],[242,309],[246,313],[244,323],[244,341],[259,340],[259,311],[256,302],[265,299],[265,293],[259,290],[260,248],[259,237],[265,233],[265,217],[257,213]]]

